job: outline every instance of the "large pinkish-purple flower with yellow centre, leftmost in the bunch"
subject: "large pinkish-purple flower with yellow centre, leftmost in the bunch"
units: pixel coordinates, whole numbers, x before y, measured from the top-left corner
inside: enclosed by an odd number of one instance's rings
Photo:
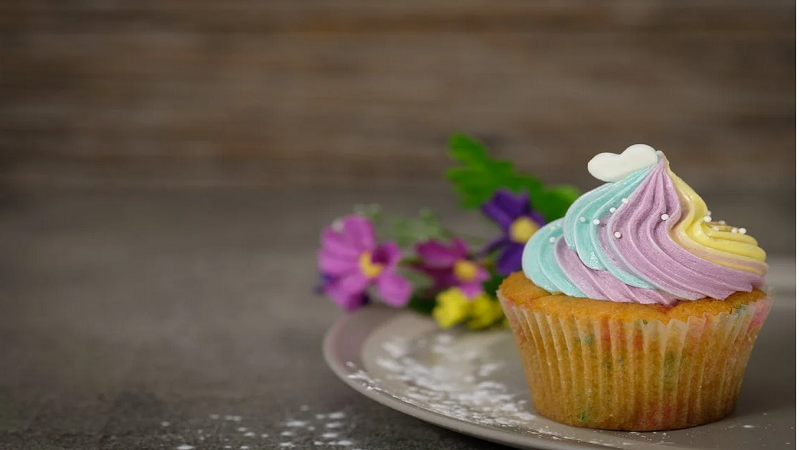
[[[347,216],[326,227],[318,257],[326,278],[322,290],[348,311],[364,304],[371,285],[392,306],[405,306],[411,297],[411,283],[395,270],[400,249],[394,242],[378,245],[375,229],[364,217]]]

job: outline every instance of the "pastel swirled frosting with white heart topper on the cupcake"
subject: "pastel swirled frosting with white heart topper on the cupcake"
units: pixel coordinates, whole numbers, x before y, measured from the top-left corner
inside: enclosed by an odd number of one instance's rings
[[[527,242],[522,268],[537,285],[573,297],[671,305],[764,283],[764,250],[745,229],[713,221],[663,153],[636,145],[598,155],[589,169],[615,181],[582,195]]]

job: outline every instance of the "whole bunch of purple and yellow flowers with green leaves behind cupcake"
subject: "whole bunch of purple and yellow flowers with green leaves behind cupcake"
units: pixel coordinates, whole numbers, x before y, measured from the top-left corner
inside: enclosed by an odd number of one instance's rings
[[[498,237],[468,243],[427,209],[407,219],[387,217],[377,205],[356,207],[322,230],[320,293],[347,311],[370,301],[409,308],[443,328],[505,323],[495,296],[500,282],[522,267],[528,239],[563,217],[579,192],[545,186],[464,135],[451,138],[449,153],[457,165],[445,176],[461,206],[480,209],[499,228]]]

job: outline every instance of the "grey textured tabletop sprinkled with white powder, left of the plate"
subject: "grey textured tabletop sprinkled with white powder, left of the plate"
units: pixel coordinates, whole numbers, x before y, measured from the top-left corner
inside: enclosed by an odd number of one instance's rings
[[[312,294],[317,233],[364,197],[3,192],[0,448],[313,448],[324,433],[351,449],[497,448],[372,402],[325,366],[340,312]],[[486,231],[447,196],[366,197]]]

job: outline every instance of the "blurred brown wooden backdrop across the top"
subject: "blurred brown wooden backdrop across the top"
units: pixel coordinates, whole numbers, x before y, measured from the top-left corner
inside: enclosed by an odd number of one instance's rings
[[[3,2],[0,179],[434,183],[461,130],[548,181],[646,142],[700,190],[793,199],[794,8]]]

